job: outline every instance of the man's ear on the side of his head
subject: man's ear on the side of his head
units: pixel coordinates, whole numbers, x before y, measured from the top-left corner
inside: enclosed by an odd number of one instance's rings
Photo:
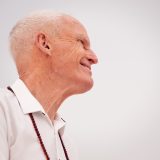
[[[36,46],[45,54],[51,55],[51,45],[44,33],[39,33],[36,36]]]

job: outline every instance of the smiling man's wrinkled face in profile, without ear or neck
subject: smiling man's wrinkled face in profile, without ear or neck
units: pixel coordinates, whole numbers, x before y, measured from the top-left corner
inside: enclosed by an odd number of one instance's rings
[[[54,46],[52,63],[56,74],[76,84],[77,92],[89,90],[93,86],[91,65],[97,63],[97,57],[90,49],[85,28],[78,22],[66,21]]]

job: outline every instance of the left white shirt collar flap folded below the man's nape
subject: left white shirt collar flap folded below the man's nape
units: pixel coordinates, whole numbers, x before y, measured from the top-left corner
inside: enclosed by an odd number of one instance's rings
[[[17,79],[15,83],[11,85],[11,88],[13,89],[24,114],[38,111],[45,114],[42,105],[31,94],[31,92],[21,79]]]

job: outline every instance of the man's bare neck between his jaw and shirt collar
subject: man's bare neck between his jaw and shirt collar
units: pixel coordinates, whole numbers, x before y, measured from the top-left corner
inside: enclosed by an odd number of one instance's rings
[[[35,78],[37,77],[37,78]],[[42,78],[41,78],[42,77]],[[70,96],[67,83],[59,79],[50,80],[46,76],[20,77],[32,95],[40,102],[51,120],[54,119],[62,102]],[[34,82],[34,83],[33,83]]]

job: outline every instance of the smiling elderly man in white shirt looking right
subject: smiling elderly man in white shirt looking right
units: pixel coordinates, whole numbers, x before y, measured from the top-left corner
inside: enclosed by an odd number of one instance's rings
[[[0,92],[0,160],[75,160],[57,110],[93,86],[97,57],[85,28],[38,11],[12,29],[10,48],[19,79]]]

